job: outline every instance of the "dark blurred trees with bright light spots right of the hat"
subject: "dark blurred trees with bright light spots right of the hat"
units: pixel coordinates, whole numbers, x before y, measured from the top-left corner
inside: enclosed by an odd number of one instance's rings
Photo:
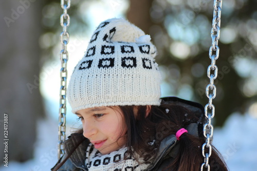
[[[170,95],[207,104],[205,87],[209,84],[206,73],[211,63],[208,54],[213,1],[130,0],[130,3],[127,18],[151,35],[159,52],[156,61],[164,71]],[[217,96],[213,101],[218,126],[232,112],[245,112],[247,104],[256,100],[257,86],[252,87],[257,85],[252,69],[257,61],[256,5],[256,1],[223,1],[221,52],[216,62]]]

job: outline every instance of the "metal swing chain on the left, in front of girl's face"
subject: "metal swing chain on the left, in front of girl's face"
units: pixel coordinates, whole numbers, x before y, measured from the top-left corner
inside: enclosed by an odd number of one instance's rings
[[[58,142],[58,159],[60,159],[65,151],[63,148],[63,142],[65,141],[65,129],[66,129],[66,80],[67,80],[67,61],[68,61],[68,51],[67,44],[69,42],[69,33],[67,32],[67,27],[70,23],[69,14],[67,10],[70,7],[70,0],[61,0],[61,7],[63,9],[63,14],[60,18],[60,24],[63,31],[60,34],[60,42],[62,44],[62,50],[60,52],[61,60],[61,88],[60,88],[60,108],[59,108],[59,142]]]

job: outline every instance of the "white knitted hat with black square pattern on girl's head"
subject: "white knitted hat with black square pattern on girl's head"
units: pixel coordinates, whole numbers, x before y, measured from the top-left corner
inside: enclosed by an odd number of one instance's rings
[[[72,112],[99,106],[159,105],[161,76],[150,40],[150,35],[122,18],[101,23],[69,81]]]

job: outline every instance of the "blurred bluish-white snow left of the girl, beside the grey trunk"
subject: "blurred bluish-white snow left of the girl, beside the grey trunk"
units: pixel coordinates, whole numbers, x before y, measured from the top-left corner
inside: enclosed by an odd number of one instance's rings
[[[70,129],[66,127],[67,135]],[[66,136],[67,137],[67,136]],[[26,142],[25,142],[26,143]],[[34,158],[24,162],[9,161],[8,167],[0,166],[1,171],[44,171],[50,170],[58,161],[58,123],[52,119],[38,121],[37,138],[34,144]]]

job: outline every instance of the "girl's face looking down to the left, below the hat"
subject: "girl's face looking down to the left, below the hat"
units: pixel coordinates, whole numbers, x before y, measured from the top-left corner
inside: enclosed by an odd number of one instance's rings
[[[93,107],[78,110],[83,135],[101,154],[109,154],[125,145],[127,128],[119,107]]]

